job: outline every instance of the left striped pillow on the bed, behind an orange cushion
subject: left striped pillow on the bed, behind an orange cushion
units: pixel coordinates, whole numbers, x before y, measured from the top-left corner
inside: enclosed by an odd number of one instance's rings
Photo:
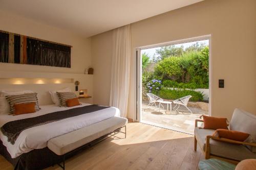
[[[10,113],[14,114],[14,105],[20,103],[35,103],[35,111],[40,110],[38,105],[37,93],[26,93],[19,95],[7,95],[5,96],[6,100],[9,103]]]

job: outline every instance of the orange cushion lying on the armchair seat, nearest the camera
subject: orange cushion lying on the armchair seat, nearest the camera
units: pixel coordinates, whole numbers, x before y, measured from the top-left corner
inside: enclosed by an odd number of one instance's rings
[[[245,141],[250,135],[239,131],[230,131],[226,129],[217,129],[213,136],[224,137],[231,140]]]

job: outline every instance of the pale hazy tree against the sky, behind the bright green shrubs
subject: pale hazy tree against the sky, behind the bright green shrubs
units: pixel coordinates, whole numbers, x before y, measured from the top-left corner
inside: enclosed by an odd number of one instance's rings
[[[153,57],[154,62],[159,62],[167,57],[179,57],[184,53],[183,45],[175,46],[162,46],[160,49],[156,50],[156,53]]]

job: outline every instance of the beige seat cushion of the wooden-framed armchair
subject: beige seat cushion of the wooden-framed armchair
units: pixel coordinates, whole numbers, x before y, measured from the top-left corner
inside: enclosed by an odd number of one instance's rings
[[[205,151],[206,136],[215,130],[195,127],[195,136],[201,149]],[[210,154],[234,160],[256,159],[256,154],[242,144],[231,144],[210,139]]]

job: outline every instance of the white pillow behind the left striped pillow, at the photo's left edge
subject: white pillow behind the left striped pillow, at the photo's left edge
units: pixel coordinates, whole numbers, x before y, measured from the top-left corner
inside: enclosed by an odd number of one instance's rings
[[[0,114],[9,114],[10,113],[9,103],[7,102],[5,96],[19,95],[19,94],[25,94],[25,93],[33,93],[33,91],[31,91],[31,90],[23,90],[23,91],[1,90],[0,91]]]

